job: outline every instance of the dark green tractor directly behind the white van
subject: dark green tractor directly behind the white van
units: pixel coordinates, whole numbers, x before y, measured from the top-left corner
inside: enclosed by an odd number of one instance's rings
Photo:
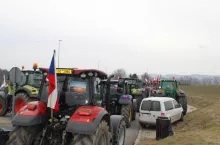
[[[179,89],[176,80],[161,80],[156,90],[157,97],[171,97],[177,100],[183,107],[183,115],[187,113],[187,98],[183,90]]]

